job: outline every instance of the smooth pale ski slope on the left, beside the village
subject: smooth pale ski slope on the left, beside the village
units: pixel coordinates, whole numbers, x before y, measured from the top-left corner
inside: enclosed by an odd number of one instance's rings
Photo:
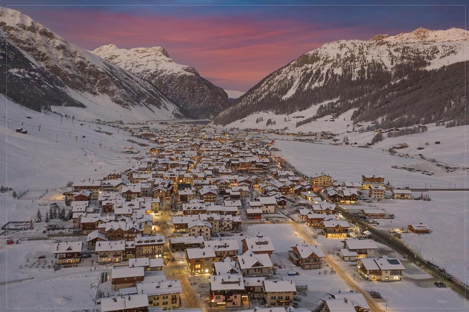
[[[13,187],[17,193],[22,188],[32,192],[62,187],[70,179],[123,170],[132,166],[129,159],[133,162],[131,156],[135,156],[121,153],[132,145],[127,140],[145,142],[111,126],[34,111],[7,102],[3,95],[0,114],[5,116],[0,123],[0,185]],[[17,133],[18,127],[28,133]],[[102,132],[95,131],[98,127]]]

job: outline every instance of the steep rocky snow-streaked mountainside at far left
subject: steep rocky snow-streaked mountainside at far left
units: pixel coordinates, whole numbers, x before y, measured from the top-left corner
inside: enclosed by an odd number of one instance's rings
[[[127,113],[144,119],[182,116],[151,83],[71,44],[19,11],[0,7],[0,39],[9,47],[8,55],[2,54],[8,62],[0,65],[8,73],[8,97],[24,106],[80,107],[90,118],[95,108],[116,109],[126,120]],[[5,94],[6,86],[0,86]]]

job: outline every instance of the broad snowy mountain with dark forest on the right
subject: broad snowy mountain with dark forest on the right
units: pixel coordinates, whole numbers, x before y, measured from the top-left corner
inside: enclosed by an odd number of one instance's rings
[[[316,119],[356,108],[357,121],[416,124],[457,119],[464,109],[467,30],[419,28],[368,41],[339,40],[265,77],[214,119],[227,125],[256,111],[292,114],[312,105]]]

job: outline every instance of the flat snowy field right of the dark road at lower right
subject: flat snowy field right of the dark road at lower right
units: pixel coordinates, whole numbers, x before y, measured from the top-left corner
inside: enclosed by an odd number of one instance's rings
[[[409,224],[423,223],[430,227],[430,234],[403,233],[404,240],[415,251],[433,260],[439,267],[445,268],[451,275],[464,281],[469,273],[466,261],[465,224],[469,221],[466,215],[465,192],[431,191],[425,192],[431,201],[385,200],[373,204],[373,208],[384,209],[393,214],[394,219],[380,219],[378,229],[402,229],[407,231]],[[420,196],[414,192],[413,196]],[[350,210],[370,208],[369,206],[347,206]],[[466,235],[464,235],[466,234]],[[466,254],[465,254],[466,253]]]

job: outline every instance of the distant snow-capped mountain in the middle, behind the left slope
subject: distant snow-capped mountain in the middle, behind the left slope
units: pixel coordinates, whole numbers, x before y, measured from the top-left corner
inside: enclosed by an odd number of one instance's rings
[[[201,77],[194,67],[174,62],[160,46],[127,50],[103,45],[92,52],[151,82],[194,118],[213,118],[229,105],[223,89]]]

